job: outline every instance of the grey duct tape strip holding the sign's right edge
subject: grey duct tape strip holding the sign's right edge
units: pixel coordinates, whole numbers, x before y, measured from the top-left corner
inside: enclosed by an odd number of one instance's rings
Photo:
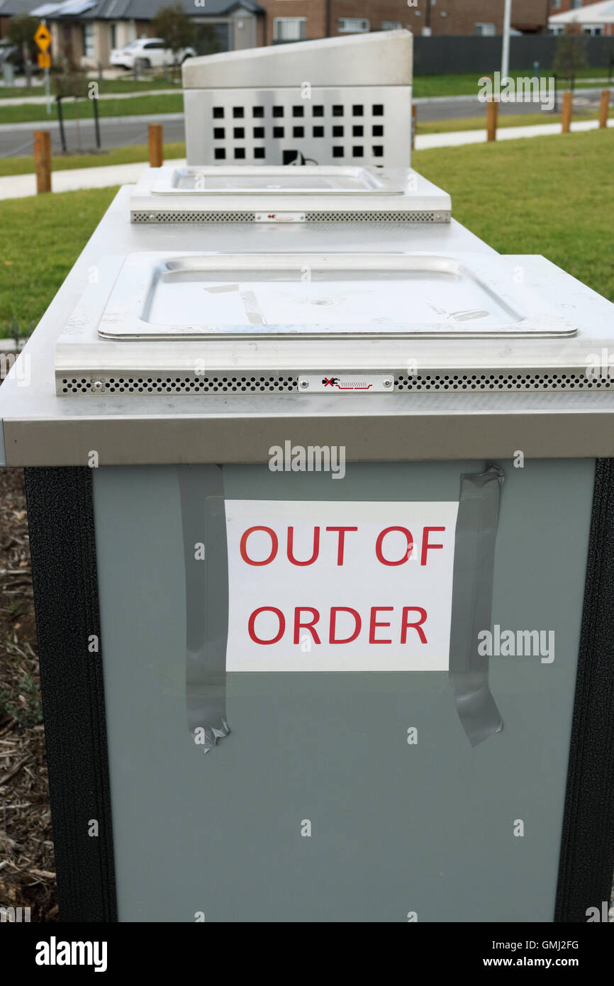
[[[497,465],[460,477],[449,645],[449,679],[458,718],[472,746],[501,733],[478,634],[491,629],[495,541],[504,473]]]

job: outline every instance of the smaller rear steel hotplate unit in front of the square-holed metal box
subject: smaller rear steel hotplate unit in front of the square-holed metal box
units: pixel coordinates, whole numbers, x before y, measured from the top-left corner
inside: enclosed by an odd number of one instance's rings
[[[133,223],[449,223],[450,215],[449,195],[403,168],[148,169],[130,196]]]

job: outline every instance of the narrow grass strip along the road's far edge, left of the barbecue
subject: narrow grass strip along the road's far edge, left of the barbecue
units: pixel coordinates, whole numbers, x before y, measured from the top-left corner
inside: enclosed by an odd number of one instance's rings
[[[79,119],[91,119],[94,116],[92,100],[79,100],[77,110]],[[64,119],[74,119],[76,115],[74,100],[70,98],[62,100],[62,111]],[[99,100],[100,116],[140,116],[145,113],[181,112],[183,112],[183,94],[176,91],[158,96],[134,96],[127,100]],[[0,123],[34,123],[47,118],[57,119],[55,102],[48,117],[45,106],[37,104],[0,106]]]

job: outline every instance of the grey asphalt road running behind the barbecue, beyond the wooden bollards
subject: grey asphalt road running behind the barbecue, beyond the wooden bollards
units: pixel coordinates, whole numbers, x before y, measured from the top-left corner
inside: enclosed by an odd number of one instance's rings
[[[575,97],[575,106],[579,110],[596,109],[599,103],[600,89],[579,90]],[[477,96],[455,97],[453,99],[416,100],[418,124],[421,120],[462,119],[466,116],[484,116],[486,106],[480,103]],[[522,116],[526,113],[539,111],[539,105],[534,103],[502,104],[500,112],[505,115]],[[544,123],[549,121],[550,113],[544,111]],[[41,114],[42,116],[42,114]],[[185,129],[182,113],[162,113],[148,116],[116,116],[102,117],[101,134],[103,150],[115,147],[125,147],[128,144],[147,143],[147,126],[149,123],[162,123],[165,128],[165,141],[177,142],[185,139]],[[67,120],[66,138],[71,150],[77,150],[77,132],[74,121]],[[34,130],[51,131],[51,143],[54,150],[60,149],[59,128],[56,121],[42,118],[37,123],[4,123],[0,125],[0,156],[23,156],[32,154],[32,134]],[[94,123],[92,120],[82,120],[80,123],[81,147],[84,151],[95,149]]]

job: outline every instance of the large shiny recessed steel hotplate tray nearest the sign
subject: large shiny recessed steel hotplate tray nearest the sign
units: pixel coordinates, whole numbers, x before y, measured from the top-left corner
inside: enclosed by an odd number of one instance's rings
[[[482,254],[133,253],[105,339],[570,336],[576,329]]]

